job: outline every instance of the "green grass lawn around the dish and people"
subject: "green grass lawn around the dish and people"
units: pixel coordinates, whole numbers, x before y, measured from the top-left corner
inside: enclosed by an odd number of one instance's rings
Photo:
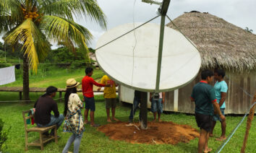
[[[30,87],[48,87],[49,85],[54,85],[56,87],[65,87],[65,82],[69,78],[75,78],[80,81],[85,75],[84,69],[78,69],[77,71],[70,70],[54,70],[48,72],[44,77],[43,74],[38,74],[37,76],[30,77]],[[95,79],[103,76],[102,71],[95,70],[93,77]],[[17,79],[17,82],[9,84],[9,86],[19,87],[22,86],[22,79]],[[30,93],[30,99],[36,100],[43,93]],[[59,95],[56,95],[56,98]],[[82,98],[82,95],[80,94]],[[18,92],[0,92],[0,101],[5,100],[18,100]],[[95,122],[101,125],[107,124],[106,122],[106,109],[103,96],[95,96],[96,101],[96,111],[95,111]],[[64,110],[64,103],[58,102],[60,113]],[[4,152],[25,152],[25,131],[24,123],[22,120],[22,110],[28,110],[33,107],[33,102],[0,102],[0,118],[5,122],[4,129],[11,127],[8,135],[8,140],[6,143],[6,148]],[[116,108],[116,118],[121,121],[128,121],[130,111],[130,105],[118,104]],[[138,110],[135,119],[138,118]],[[173,121],[179,124],[188,124],[193,128],[197,128],[194,115],[186,115],[183,113],[171,113],[163,114],[163,121]],[[231,116],[226,117],[226,133],[227,135],[231,133],[233,128],[242,119],[241,116]],[[148,120],[152,121],[152,113],[148,112]],[[223,152],[240,152],[242,147],[244,132],[246,127],[246,121],[242,123],[242,126],[236,131],[231,141],[224,147]],[[252,128],[249,132],[249,138],[247,141],[247,152],[256,152],[255,141],[256,141],[256,121],[252,121]],[[121,127],[120,127],[121,128]],[[198,128],[197,128],[198,129]],[[216,124],[214,134],[218,136],[221,134],[220,123]],[[58,130],[58,135],[61,136],[58,144],[54,141],[45,144],[43,152],[61,152],[64,148],[67,139],[71,134],[66,134],[62,132],[62,126]],[[30,133],[30,140],[38,139],[38,134]],[[126,141],[114,141],[108,139],[97,128],[92,128],[88,125],[85,126],[85,133],[82,137],[82,142],[80,144],[80,152],[197,152],[197,142],[198,139],[189,141],[188,144],[179,143],[177,145],[171,144],[129,144]],[[213,148],[215,151],[221,145],[220,141],[215,141],[215,138],[210,138],[209,147]],[[73,146],[69,149],[72,152]],[[27,152],[40,152],[40,147],[29,147]]]

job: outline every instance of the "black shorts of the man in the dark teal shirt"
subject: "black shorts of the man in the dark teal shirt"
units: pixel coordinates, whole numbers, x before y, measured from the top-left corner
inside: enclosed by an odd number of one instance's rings
[[[195,121],[197,121],[197,126],[200,129],[210,132],[212,128],[212,115],[204,115],[200,113],[195,113]]]

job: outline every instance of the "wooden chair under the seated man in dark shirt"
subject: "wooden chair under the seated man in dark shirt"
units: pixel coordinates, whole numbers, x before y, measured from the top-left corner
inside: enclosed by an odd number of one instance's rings
[[[43,144],[51,141],[52,139],[55,139],[55,143],[58,142],[58,136],[57,136],[57,128],[56,125],[54,126],[48,126],[45,128],[39,128],[37,126],[33,126],[32,128],[27,128],[27,119],[33,118],[33,115],[27,116],[27,113],[31,113],[31,110],[25,110],[22,111],[24,125],[25,125],[25,150],[27,150],[28,146],[40,146],[41,150],[43,150]],[[49,131],[51,129],[54,129],[54,136],[43,136],[43,133],[46,131]],[[39,139],[33,142],[28,142],[27,135],[29,132],[38,132],[39,133]]]

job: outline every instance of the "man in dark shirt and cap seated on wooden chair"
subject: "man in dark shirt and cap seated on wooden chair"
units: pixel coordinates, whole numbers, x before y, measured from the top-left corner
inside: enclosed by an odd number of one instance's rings
[[[64,116],[62,114],[59,115],[58,105],[53,100],[56,92],[56,87],[48,87],[46,94],[39,97],[35,102],[35,123],[38,127],[48,127],[56,124],[58,129],[64,121]],[[54,115],[51,115],[51,111],[54,111]],[[46,135],[48,135],[48,132]],[[54,130],[51,131],[51,135],[54,135]]]

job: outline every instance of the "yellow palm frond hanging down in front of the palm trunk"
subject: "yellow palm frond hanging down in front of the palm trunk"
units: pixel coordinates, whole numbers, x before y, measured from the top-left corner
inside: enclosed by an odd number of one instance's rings
[[[10,45],[16,43],[22,43],[22,51],[27,54],[30,61],[30,67],[37,72],[38,69],[38,53],[40,58],[47,55],[50,45],[43,38],[43,34],[31,19],[26,19],[20,26],[18,26],[13,32],[9,33],[4,39]]]

